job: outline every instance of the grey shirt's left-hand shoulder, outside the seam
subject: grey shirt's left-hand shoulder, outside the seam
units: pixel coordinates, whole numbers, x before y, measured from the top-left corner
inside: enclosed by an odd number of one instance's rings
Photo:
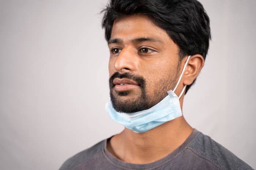
[[[73,157],[69,158],[67,161],[63,163],[59,170],[70,170],[74,169],[75,167],[79,166],[80,164],[90,161],[92,158],[97,156],[98,154],[102,153],[104,147],[105,140],[95,144],[94,146],[81,151],[80,153],[74,155]]]

